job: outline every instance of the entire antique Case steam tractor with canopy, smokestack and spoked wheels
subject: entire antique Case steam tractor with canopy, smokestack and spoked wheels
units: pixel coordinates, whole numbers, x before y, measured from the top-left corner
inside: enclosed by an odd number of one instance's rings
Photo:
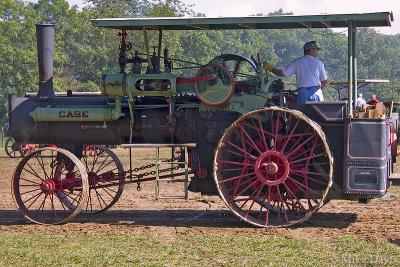
[[[19,162],[15,202],[28,220],[59,224],[81,211],[107,210],[126,183],[174,179],[160,162],[156,172],[140,173],[145,168],[132,161],[125,170],[109,145],[182,150],[169,163],[184,167],[186,181],[193,173],[188,190],[218,194],[234,215],[258,227],[304,222],[331,199],[382,197],[393,176],[397,120],[379,105],[355,109],[356,29],[392,20],[391,13],[95,19],[94,26],[118,33],[119,71],[101,77],[101,94],[64,95],[52,83],[55,27],[36,25],[39,90],[10,95],[10,132],[18,144],[55,146]],[[297,104],[296,92],[266,73],[260,56],[222,54],[194,64],[171,58],[163,46],[163,33],[179,30],[339,27],[348,28],[348,93],[336,102]],[[130,39],[139,31],[144,51]],[[154,49],[150,34],[158,39]],[[197,74],[182,75],[184,68]],[[96,151],[86,153],[85,144]]]

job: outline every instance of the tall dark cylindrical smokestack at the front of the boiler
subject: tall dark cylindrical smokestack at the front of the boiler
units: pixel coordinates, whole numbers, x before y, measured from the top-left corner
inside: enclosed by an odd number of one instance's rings
[[[37,51],[39,63],[38,97],[54,96],[53,89],[53,52],[54,24],[36,24]]]

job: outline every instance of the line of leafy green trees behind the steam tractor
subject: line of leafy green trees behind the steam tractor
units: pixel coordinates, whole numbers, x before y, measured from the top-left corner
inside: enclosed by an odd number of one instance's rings
[[[54,22],[56,30],[55,88],[58,91],[98,91],[104,72],[118,70],[118,36],[113,30],[99,29],[90,19],[102,17],[204,16],[180,0],[87,0],[79,10],[67,0],[0,1],[0,122],[7,116],[7,95],[23,95],[37,90],[35,24]],[[285,14],[282,10],[269,15]],[[323,48],[321,59],[329,78],[347,77],[347,37],[344,33],[322,30],[238,30],[181,31],[166,33],[164,44],[172,57],[205,64],[214,56],[236,53],[261,56],[284,67],[302,54],[306,41],[316,40]],[[133,50],[144,51],[141,33],[129,35]],[[389,79],[390,84],[363,88],[365,95],[376,92],[380,99],[400,101],[400,35],[384,35],[373,29],[358,31],[359,78]],[[150,43],[157,44],[156,35]],[[293,86],[293,79],[286,81]],[[334,90],[326,92],[335,99]]]

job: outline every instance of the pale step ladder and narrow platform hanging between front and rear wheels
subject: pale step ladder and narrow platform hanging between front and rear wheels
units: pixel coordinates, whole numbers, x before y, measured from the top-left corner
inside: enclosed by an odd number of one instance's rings
[[[155,199],[188,199],[188,184],[189,184],[189,148],[195,148],[195,143],[183,143],[183,144],[123,144],[122,148],[129,148],[130,155],[132,148],[155,148],[156,149],[156,179],[155,179]],[[171,148],[171,159],[163,159],[161,157],[161,148]],[[183,161],[182,159],[175,159],[174,154],[176,149],[182,149],[184,152]],[[131,157],[131,156],[130,156]],[[130,160],[132,162],[132,160]],[[132,165],[132,163],[131,163]],[[163,178],[161,175],[162,166],[174,166],[183,165],[184,174],[179,177],[174,177],[174,170],[171,170],[170,177]],[[132,167],[131,167],[132,169]],[[182,195],[166,195],[162,194],[161,185],[163,183],[183,183],[183,194]]]

